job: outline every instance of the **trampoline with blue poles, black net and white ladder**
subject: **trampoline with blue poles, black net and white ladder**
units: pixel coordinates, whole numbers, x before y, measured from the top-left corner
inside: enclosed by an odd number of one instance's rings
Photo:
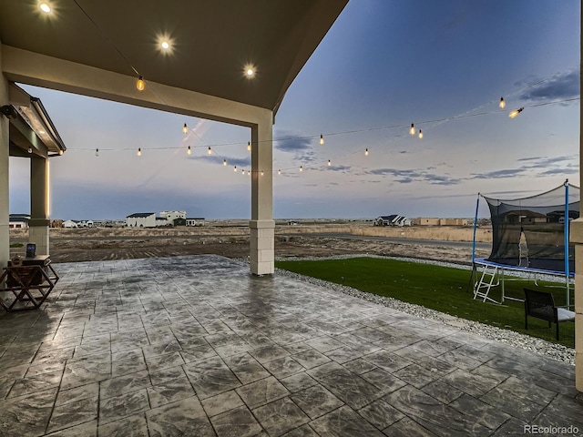
[[[569,244],[569,223],[579,217],[579,188],[565,183],[527,198],[499,199],[478,194],[473,271],[482,269],[474,280],[474,299],[504,303],[506,270],[534,276],[553,275],[565,281],[566,307],[571,307],[571,285],[575,274],[575,248]],[[486,259],[476,258],[476,227],[480,198],[484,198],[492,221],[492,252]],[[494,287],[502,288],[501,300],[490,297]]]

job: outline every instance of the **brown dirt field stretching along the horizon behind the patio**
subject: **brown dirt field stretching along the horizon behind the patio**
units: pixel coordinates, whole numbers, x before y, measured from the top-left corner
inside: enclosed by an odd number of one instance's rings
[[[326,237],[311,234],[327,234]],[[288,257],[323,257],[342,254],[374,254],[442,259],[467,262],[467,248],[451,248],[435,244],[390,242],[382,240],[343,239],[333,234],[354,236],[396,237],[403,239],[433,239],[471,241],[471,227],[411,227],[377,228],[371,223],[302,223],[298,226],[277,224],[275,255]],[[26,231],[11,230],[11,255],[24,255]],[[489,241],[489,229],[478,229],[478,241]],[[103,259],[134,259],[178,255],[217,254],[229,258],[249,256],[249,228],[245,222],[217,221],[197,228],[164,229],[51,229],[50,254],[54,262],[75,262]],[[478,251],[487,256],[489,251]]]

